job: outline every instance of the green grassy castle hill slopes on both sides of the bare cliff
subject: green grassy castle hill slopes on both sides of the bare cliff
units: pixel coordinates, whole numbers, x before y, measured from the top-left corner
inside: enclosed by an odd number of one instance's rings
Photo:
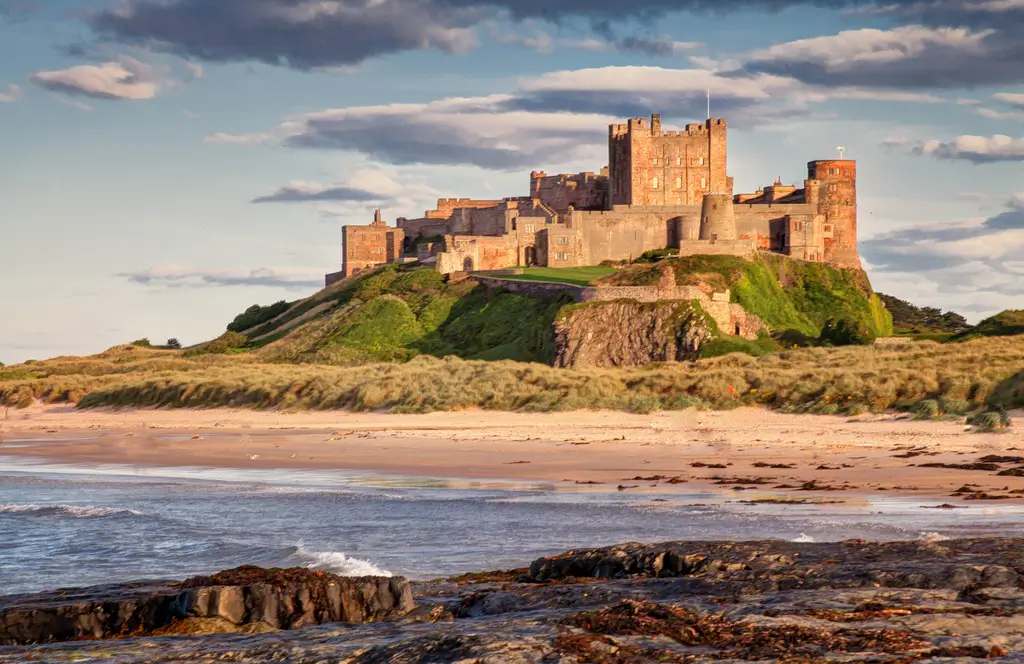
[[[869,337],[892,333],[892,321],[866,276],[765,256],[668,258],[621,268],[527,268],[517,280],[575,285],[647,285],[670,266],[681,285],[732,290],[733,300],[761,317],[785,344],[808,345],[830,319],[845,319]],[[254,305],[220,338],[188,350],[248,352],[262,361],[362,365],[408,362],[417,356],[468,360],[516,360],[550,364],[552,323],[569,298],[488,292],[473,280],[449,283],[434,269],[388,265],[357,276],[297,302]],[[788,336],[787,336],[788,335]],[[708,357],[731,351],[764,355],[779,342],[745,341],[720,334]]]

